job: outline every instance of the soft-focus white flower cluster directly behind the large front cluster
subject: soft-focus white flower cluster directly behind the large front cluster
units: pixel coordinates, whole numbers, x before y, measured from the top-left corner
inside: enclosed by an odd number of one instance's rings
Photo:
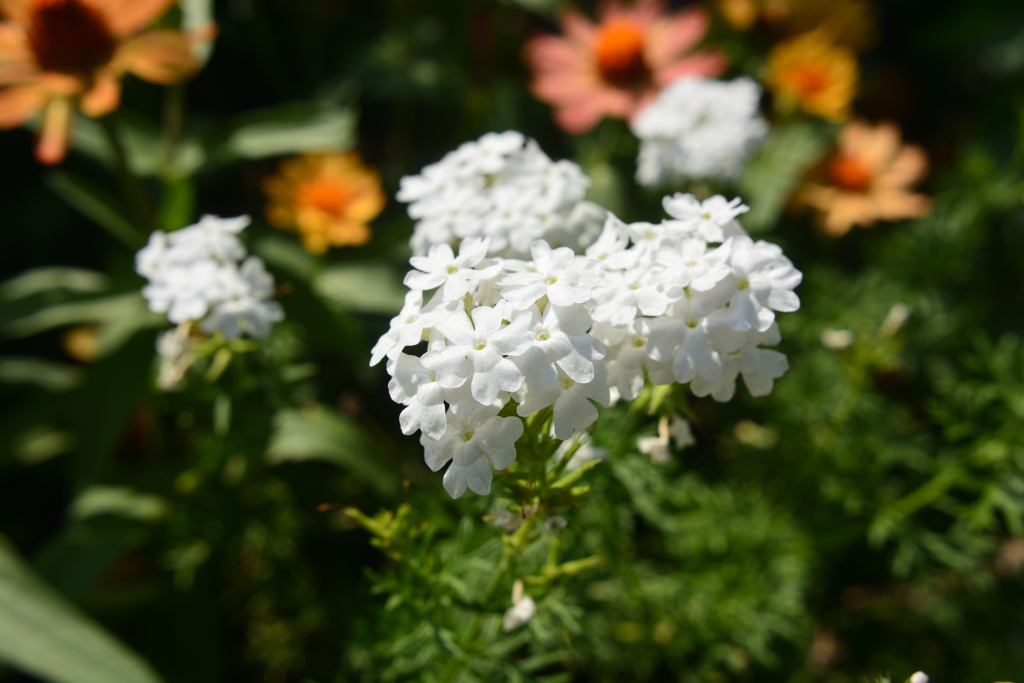
[[[487,237],[492,256],[525,258],[530,245],[587,245],[604,210],[584,195],[590,179],[570,161],[553,162],[522,133],[487,133],[401,179],[398,201],[416,219],[413,252]]]

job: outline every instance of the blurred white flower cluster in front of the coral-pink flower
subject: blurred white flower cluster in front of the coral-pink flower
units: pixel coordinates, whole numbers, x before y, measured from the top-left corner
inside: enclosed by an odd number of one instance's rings
[[[760,99],[761,88],[749,78],[676,81],[633,121],[640,138],[637,182],[739,175],[768,132]]]

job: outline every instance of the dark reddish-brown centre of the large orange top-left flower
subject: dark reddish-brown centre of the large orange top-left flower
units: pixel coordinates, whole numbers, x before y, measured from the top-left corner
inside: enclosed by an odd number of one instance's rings
[[[82,0],[33,0],[29,46],[43,71],[88,74],[111,60],[117,43],[102,14]]]

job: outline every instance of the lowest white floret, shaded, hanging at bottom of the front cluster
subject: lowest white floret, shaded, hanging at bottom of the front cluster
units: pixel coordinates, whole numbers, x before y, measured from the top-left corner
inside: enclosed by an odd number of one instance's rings
[[[497,409],[478,411],[469,418],[447,415],[447,429],[438,439],[420,437],[427,467],[444,472],[444,488],[459,498],[468,486],[474,494],[490,493],[490,468],[503,470],[515,460],[515,442],[522,436],[522,421],[500,418]]]

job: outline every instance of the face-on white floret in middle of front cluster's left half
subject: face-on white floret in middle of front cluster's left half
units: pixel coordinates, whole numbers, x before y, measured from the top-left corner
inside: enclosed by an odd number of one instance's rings
[[[498,399],[499,391],[515,391],[522,385],[519,368],[506,358],[526,351],[534,341],[529,334],[530,314],[523,313],[511,325],[502,326],[495,308],[477,306],[470,323],[465,311],[454,311],[436,324],[447,346],[428,351],[423,365],[436,371],[437,383],[454,389],[470,380],[473,398],[483,405]]]

